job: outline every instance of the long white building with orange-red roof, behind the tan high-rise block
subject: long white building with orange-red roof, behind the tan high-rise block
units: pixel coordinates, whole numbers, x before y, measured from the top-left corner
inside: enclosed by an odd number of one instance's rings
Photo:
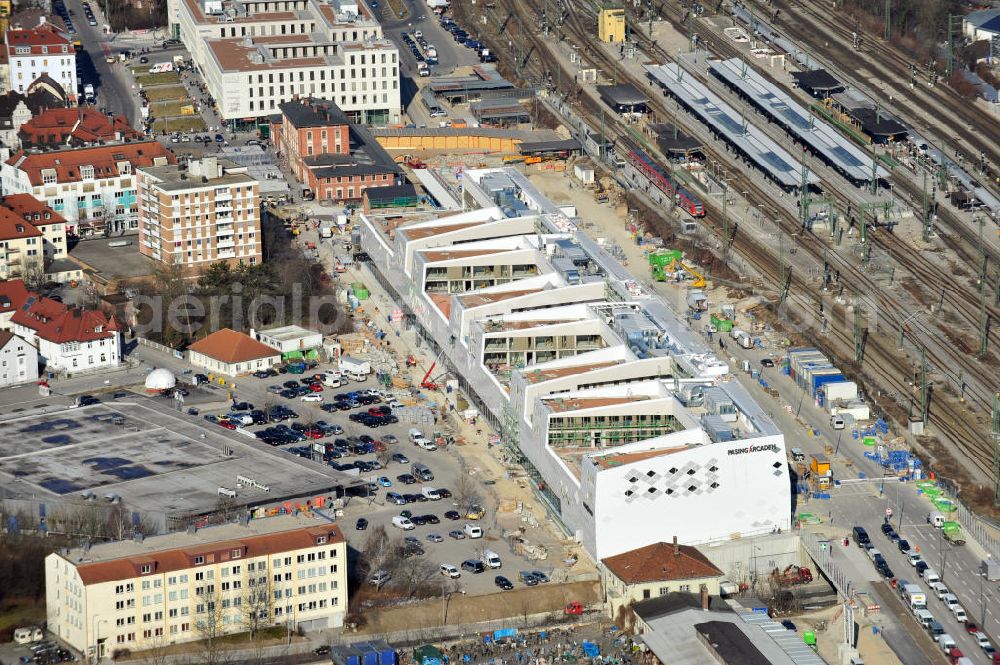
[[[0,184],[4,196],[31,194],[62,215],[67,234],[136,232],[136,169],[176,163],[157,141],[20,150],[0,164]]]

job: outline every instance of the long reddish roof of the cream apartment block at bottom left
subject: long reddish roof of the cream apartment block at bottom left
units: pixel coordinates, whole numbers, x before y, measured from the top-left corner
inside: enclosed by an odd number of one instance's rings
[[[77,565],[76,570],[84,584],[101,584],[139,577],[142,564],[152,564],[154,574],[170,573],[194,568],[195,555],[205,556],[206,563],[210,563],[209,558],[213,553],[216,562],[229,560],[232,551],[236,549],[241,550],[239,559],[269,556],[279,552],[316,547],[319,544],[318,536],[325,536],[327,544],[344,542],[343,535],[335,526],[297,528],[109,561],[81,563]]]

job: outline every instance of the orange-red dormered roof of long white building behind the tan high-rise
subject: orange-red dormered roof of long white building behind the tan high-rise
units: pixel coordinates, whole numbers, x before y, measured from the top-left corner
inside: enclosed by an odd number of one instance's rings
[[[119,175],[118,162],[131,163],[134,173],[138,168],[153,166],[157,157],[166,158],[167,164],[177,163],[174,153],[156,141],[50,152],[29,153],[21,150],[7,163],[24,171],[32,185],[41,185],[43,169],[55,169],[57,182],[76,182],[81,180],[81,166],[93,166],[95,179],[114,178]]]

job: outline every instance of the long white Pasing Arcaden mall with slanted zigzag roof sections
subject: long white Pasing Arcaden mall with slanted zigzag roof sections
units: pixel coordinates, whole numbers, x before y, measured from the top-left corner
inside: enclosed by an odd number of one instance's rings
[[[465,212],[371,213],[374,278],[595,559],[791,524],[784,436],[685,322],[514,169]]]

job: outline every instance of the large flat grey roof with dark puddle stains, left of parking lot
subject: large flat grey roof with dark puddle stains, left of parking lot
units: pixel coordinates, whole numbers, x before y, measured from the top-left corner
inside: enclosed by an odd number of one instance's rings
[[[226,398],[219,392],[224,408]],[[260,445],[174,410],[172,400],[135,394],[113,403],[19,415],[0,421],[0,485],[17,496],[99,499],[117,495],[156,515],[211,512],[220,487],[237,476],[239,501],[252,504],[323,495],[353,477]],[[116,424],[116,416],[124,420]],[[30,442],[30,443],[28,443]]]

